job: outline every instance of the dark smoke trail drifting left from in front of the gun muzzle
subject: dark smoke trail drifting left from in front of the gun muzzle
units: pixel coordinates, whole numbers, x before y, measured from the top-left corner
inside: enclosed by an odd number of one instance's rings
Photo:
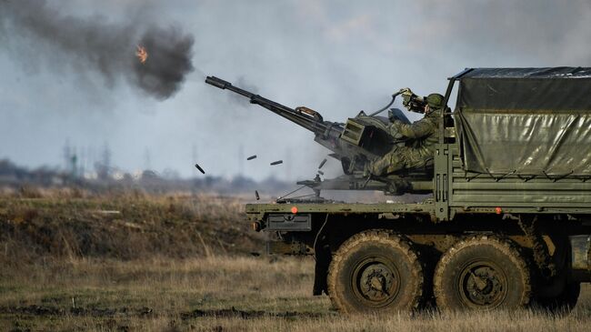
[[[25,42],[39,56],[55,53],[76,71],[100,73],[106,86],[123,79],[156,99],[174,96],[194,70],[193,36],[177,26],[135,21],[65,15],[40,0],[0,1],[0,35],[9,42]],[[145,64],[135,57],[137,45],[148,52]]]

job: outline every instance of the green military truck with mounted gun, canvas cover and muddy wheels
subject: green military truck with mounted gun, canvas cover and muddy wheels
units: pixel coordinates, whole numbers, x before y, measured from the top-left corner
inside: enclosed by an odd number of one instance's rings
[[[255,231],[275,234],[269,253],[316,259],[313,293],[340,311],[568,310],[591,281],[591,68],[468,68],[450,77],[444,105],[458,86],[456,106],[441,114],[432,163],[386,177],[361,169],[409,144],[387,133],[388,119],[361,112],[331,123],[207,80],[311,130],[341,161],[344,176],[302,182],[316,192],[310,199],[246,206]],[[430,195],[342,203],[321,198],[326,189]]]

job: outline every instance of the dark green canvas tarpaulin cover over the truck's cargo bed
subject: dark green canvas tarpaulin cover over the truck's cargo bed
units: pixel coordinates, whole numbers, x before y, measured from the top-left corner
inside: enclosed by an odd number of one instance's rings
[[[478,68],[459,80],[467,171],[591,176],[591,68]]]

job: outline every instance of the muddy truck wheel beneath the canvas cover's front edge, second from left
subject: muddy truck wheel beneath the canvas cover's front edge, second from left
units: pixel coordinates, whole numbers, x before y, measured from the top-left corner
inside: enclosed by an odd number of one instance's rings
[[[531,299],[526,260],[496,236],[459,240],[439,259],[433,282],[442,310],[517,308]]]

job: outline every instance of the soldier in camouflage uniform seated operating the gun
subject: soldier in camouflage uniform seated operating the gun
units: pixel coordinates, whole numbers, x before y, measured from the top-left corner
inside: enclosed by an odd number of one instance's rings
[[[426,166],[426,163],[433,159],[444,97],[431,94],[425,99],[425,117],[410,125],[394,120],[388,126],[392,136],[405,136],[410,142],[407,142],[406,146],[394,146],[385,156],[372,161],[366,169],[366,175],[371,173],[374,176],[387,176],[403,169]]]

